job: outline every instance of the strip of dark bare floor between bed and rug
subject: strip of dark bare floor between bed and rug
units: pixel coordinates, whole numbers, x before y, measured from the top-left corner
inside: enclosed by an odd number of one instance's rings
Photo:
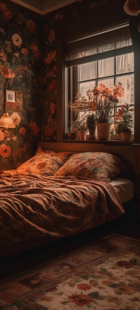
[[[136,209],[133,206],[133,209]],[[34,267],[44,261],[56,258],[78,247],[102,239],[110,234],[119,234],[140,240],[140,214],[132,214],[132,206],[127,216],[124,214],[113,222],[93,228],[77,236],[64,238],[11,257],[0,258],[0,279]],[[135,215],[134,215],[135,214]]]

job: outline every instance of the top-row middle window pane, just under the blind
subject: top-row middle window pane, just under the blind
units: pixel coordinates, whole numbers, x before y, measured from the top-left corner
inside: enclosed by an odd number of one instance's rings
[[[98,77],[114,75],[114,57],[98,61]]]

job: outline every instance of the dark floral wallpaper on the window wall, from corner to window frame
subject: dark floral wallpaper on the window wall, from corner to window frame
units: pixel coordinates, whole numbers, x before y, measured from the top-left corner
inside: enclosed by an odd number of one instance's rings
[[[52,12],[44,17],[43,24],[43,57],[44,57],[44,102],[43,102],[43,140],[56,141],[57,131],[57,51],[55,27],[58,21],[67,20],[69,16],[80,14],[87,10],[100,7],[107,2],[114,0],[80,0],[71,4],[69,7],[64,7],[58,11]]]

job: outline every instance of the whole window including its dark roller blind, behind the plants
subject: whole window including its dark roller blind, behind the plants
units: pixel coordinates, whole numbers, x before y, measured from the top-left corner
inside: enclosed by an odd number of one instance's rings
[[[134,52],[127,24],[69,42],[65,48],[69,100],[74,100],[76,92],[86,96],[86,91],[100,82],[109,87],[121,82],[125,96],[119,99],[113,113],[125,102],[134,106]],[[69,113],[69,123],[72,119],[73,115]]]

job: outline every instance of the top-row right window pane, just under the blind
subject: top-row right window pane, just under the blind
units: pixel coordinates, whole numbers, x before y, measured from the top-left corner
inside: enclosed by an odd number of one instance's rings
[[[120,55],[116,57],[116,73],[126,73],[134,71],[134,53]]]

